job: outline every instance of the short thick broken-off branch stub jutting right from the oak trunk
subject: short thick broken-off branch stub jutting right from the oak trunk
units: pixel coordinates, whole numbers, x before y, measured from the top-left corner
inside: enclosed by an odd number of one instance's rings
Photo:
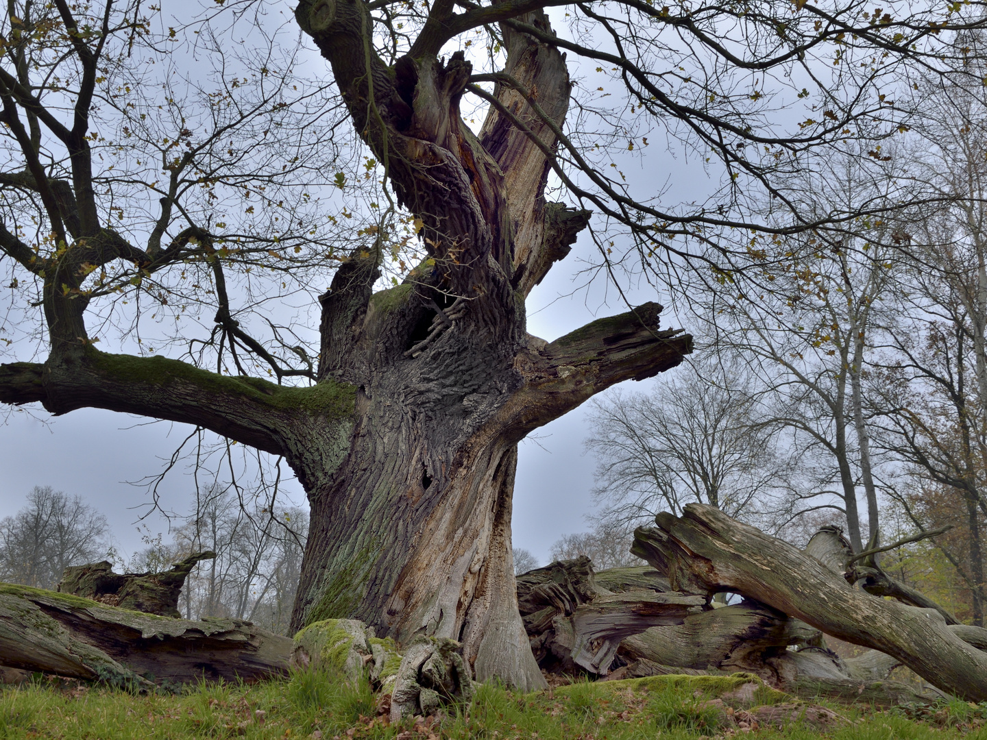
[[[645,303],[553,342],[530,337],[515,361],[524,386],[493,423],[521,438],[616,383],[645,380],[675,367],[692,352],[692,336],[659,330],[660,313],[661,306]]]

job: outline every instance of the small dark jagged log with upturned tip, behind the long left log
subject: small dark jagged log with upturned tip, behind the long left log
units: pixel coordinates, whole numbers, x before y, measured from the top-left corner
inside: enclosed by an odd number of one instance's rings
[[[191,569],[200,560],[215,556],[211,551],[189,555],[161,573],[114,573],[107,560],[72,565],[65,568],[56,590],[112,607],[179,619],[179,593]]]

